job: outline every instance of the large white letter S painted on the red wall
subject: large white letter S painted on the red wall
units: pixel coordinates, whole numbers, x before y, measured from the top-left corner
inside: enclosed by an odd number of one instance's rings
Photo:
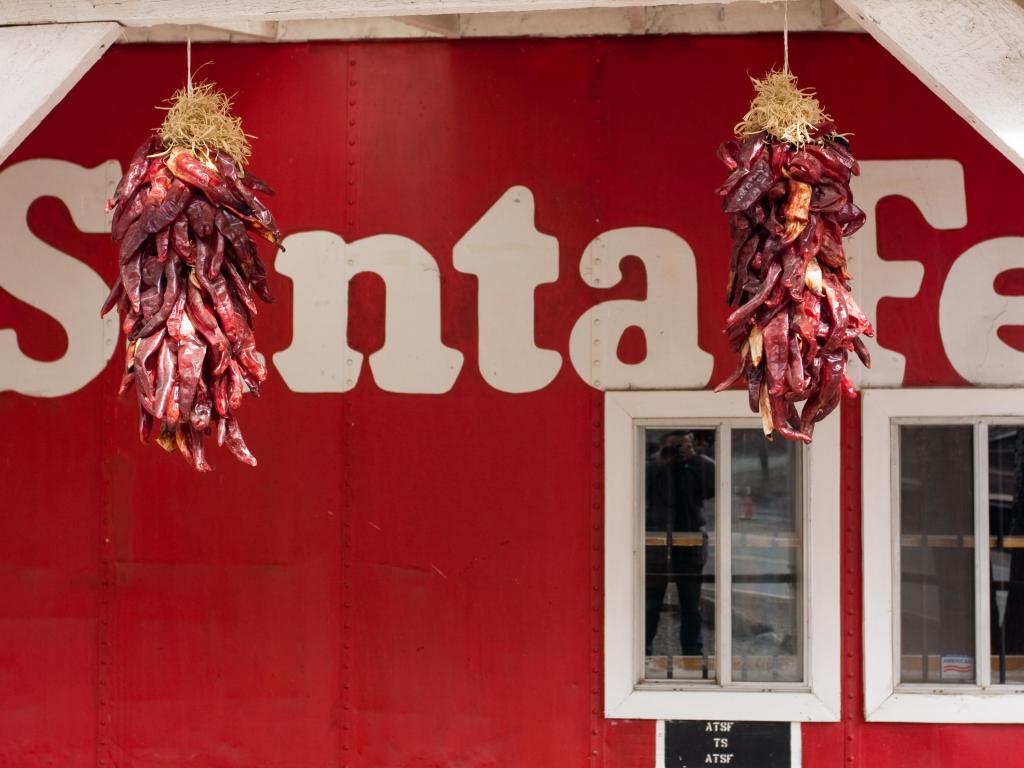
[[[68,334],[68,351],[52,362],[26,356],[17,334],[0,329],[0,392],[59,397],[95,378],[114,353],[117,314],[100,318],[109,287],[78,259],[43,243],[29,229],[29,206],[39,198],[62,201],[83,232],[106,231],[103,202],[121,175],[109,160],[83,168],[62,160],[27,160],[0,173],[0,287],[56,319]]]

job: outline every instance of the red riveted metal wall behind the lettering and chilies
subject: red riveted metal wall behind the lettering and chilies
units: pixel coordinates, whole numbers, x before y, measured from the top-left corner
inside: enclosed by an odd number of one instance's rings
[[[286,233],[423,245],[441,270],[442,340],[465,364],[444,395],[381,391],[368,367],[344,395],[273,378],[242,414],[260,467],[215,452],[205,476],[137,444],[134,408],[115,398],[119,353],[74,394],[0,393],[0,765],[652,765],[652,723],[600,716],[601,395],[567,356],[580,314],[641,298],[644,275],[634,261],[616,288],[591,289],[579,259],[614,227],[684,237],[700,345],[726,374],[714,148],[746,108],[748,74],[780,48],[775,36],[196,46],[258,136],[253,169],[278,188]],[[935,231],[905,200],[878,211],[884,257],[928,251],[921,295],[882,303],[882,340],[907,356],[907,384],[963,384],[942,353],[939,291],[970,245],[1024,236],[1020,173],[866,37],[798,37],[793,61],[862,158],[963,163],[966,228]],[[182,46],[116,48],[8,166],[126,161],[183,66]],[[452,266],[513,184],[560,246],[560,278],[536,295],[537,343],[565,361],[528,394],[481,378],[476,280]],[[59,203],[40,200],[29,220],[113,281],[109,240]],[[270,280],[268,354],[290,343],[292,308],[291,283]],[[350,343],[370,353],[382,282],[356,278],[351,299]],[[2,290],[0,328],[42,359],[66,343]],[[1020,727],[862,722],[856,406],[842,419],[844,719],[805,726],[805,765],[1024,766]]]

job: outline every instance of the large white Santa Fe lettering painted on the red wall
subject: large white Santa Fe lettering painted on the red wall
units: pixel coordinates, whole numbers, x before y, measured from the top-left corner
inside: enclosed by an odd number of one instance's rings
[[[882,298],[916,295],[924,258],[881,258],[873,215],[879,201],[906,197],[931,226],[945,229],[966,225],[967,207],[963,168],[955,161],[861,165],[854,189],[870,215],[848,250],[857,296],[873,317]],[[97,376],[111,358],[117,318],[114,313],[96,316],[106,286],[88,266],[35,238],[26,213],[36,199],[54,196],[69,206],[79,229],[105,231],[102,202],[119,174],[114,161],[87,169],[56,160],[26,161],[0,173],[0,225],[8,242],[0,253],[0,287],[53,316],[68,335],[66,354],[45,362],[18,348],[14,330],[0,330],[0,391],[68,394]],[[536,343],[537,287],[558,280],[559,271],[558,242],[537,230],[534,215],[530,190],[511,187],[454,249],[456,268],[479,281],[481,376],[505,392],[544,388],[562,362],[558,351]],[[973,383],[1016,384],[1024,375],[1024,353],[997,336],[999,326],[1024,325],[1024,298],[999,296],[992,285],[999,273],[1024,268],[1022,243],[1022,238],[979,243],[956,260],[943,288],[938,307],[943,345],[956,371]],[[347,343],[347,286],[365,271],[379,274],[386,286],[385,343],[370,356],[378,386],[418,393],[452,388],[463,355],[441,342],[439,270],[422,246],[397,234],[347,244],[332,232],[311,231],[291,236],[287,247],[276,268],[294,283],[293,340],[273,361],[291,389],[345,392],[355,386],[362,355]],[[569,338],[573,368],[600,389],[707,386],[712,357],[697,344],[697,274],[689,245],[667,229],[614,229],[585,249],[581,274],[589,286],[612,288],[621,283],[622,260],[630,255],[644,264],[646,296],[603,301],[584,312]],[[643,360],[627,364],[617,349],[631,328],[643,333],[647,351]],[[874,367],[862,372],[860,383],[901,385],[903,355],[873,341],[868,346]]]

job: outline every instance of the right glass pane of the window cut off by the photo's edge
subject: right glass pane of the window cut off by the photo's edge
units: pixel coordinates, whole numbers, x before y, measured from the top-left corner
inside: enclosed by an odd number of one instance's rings
[[[1024,684],[1024,427],[988,427],[992,683]]]

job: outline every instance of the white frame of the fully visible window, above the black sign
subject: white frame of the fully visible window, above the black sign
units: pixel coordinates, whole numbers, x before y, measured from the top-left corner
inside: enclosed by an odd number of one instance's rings
[[[604,713],[650,720],[835,722],[840,717],[839,415],[819,423],[804,449],[806,685],[731,687],[643,681],[644,427],[760,426],[745,392],[630,391],[604,395]],[[743,424],[733,422],[744,420]],[[781,439],[781,438],[777,438]],[[728,478],[726,478],[726,483]],[[719,536],[727,535],[719,521]],[[721,551],[721,548],[719,548]],[[719,577],[722,577],[719,568]],[[727,591],[727,590],[724,590]],[[720,592],[721,594],[721,592]],[[720,635],[722,633],[719,633]],[[724,642],[720,639],[719,642]]]

